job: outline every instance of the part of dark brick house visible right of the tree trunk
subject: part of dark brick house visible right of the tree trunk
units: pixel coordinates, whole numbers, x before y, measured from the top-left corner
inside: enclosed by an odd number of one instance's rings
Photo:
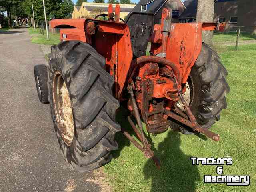
[[[226,23],[225,30],[256,33],[255,0],[218,0],[214,8],[214,22]]]

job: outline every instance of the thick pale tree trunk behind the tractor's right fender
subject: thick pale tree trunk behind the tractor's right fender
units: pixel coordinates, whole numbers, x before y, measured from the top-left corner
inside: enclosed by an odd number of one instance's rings
[[[213,22],[214,1],[215,0],[198,0],[196,22]],[[212,38],[212,31],[202,31],[202,41],[211,47],[213,46]]]

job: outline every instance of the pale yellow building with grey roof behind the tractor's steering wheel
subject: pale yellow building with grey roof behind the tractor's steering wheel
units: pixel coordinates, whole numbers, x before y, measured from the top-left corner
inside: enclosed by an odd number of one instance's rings
[[[81,6],[74,6],[72,18],[94,18],[97,14],[108,14],[107,3],[85,3]],[[116,4],[113,5],[115,11]],[[120,5],[120,18],[124,19],[136,6],[134,4],[119,4]]]

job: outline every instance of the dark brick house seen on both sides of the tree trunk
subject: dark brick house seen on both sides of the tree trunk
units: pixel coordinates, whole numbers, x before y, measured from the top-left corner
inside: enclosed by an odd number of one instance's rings
[[[184,1],[186,10],[179,17],[181,23],[196,22],[197,0]],[[223,22],[225,30],[256,32],[255,0],[215,0],[214,22]]]

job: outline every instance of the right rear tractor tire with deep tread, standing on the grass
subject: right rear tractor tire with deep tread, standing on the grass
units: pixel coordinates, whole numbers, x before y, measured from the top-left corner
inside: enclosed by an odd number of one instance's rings
[[[189,77],[193,84],[189,107],[198,124],[204,128],[209,129],[220,120],[221,110],[227,108],[226,94],[230,92],[227,75],[228,71],[220,62],[218,54],[203,43]],[[191,128],[177,122],[172,122],[171,127],[183,134],[193,134]]]

